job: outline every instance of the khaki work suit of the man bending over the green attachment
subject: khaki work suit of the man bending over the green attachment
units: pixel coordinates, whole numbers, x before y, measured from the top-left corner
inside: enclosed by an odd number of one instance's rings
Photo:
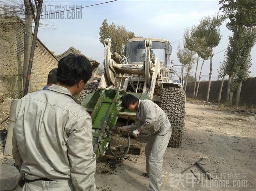
[[[164,153],[172,135],[171,124],[164,111],[151,100],[139,100],[133,124],[128,131],[141,127],[151,133],[145,147],[146,172],[149,175],[149,190],[160,191]]]

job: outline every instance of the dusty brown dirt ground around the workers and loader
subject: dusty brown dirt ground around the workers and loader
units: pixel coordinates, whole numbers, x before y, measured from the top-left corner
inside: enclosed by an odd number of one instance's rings
[[[141,156],[127,155],[124,159],[102,158],[97,161],[95,178],[98,190],[148,189],[147,178],[141,176],[145,168],[147,137],[143,134],[131,143],[143,148]],[[166,150],[162,190],[255,190],[255,146],[255,117],[222,111],[216,105],[187,103],[183,144],[180,148]],[[204,158],[202,166],[214,180],[206,180],[196,167],[191,170],[200,182],[190,170],[180,174],[201,157]],[[11,184],[17,173],[11,166],[13,161],[1,155],[0,162],[1,182]]]

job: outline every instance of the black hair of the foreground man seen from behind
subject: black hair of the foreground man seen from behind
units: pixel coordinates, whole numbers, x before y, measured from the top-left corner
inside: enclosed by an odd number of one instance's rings
[[[92,76],[92,66],[85,56],[70,54],[58,64],[57,81],[65,86],[73,86],[80,80],[86,83]]]

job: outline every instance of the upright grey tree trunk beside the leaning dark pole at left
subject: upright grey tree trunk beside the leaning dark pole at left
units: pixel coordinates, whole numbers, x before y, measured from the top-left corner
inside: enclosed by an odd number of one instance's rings
[[[32,22],[33,15],[30,8],[29,0],[24,0],[25,5],[25,28],[24,28],[24,58],[23,58],[23,91],[26,83],[29,56],[32,45]],[[28,91],[30,92],[30,91]]]

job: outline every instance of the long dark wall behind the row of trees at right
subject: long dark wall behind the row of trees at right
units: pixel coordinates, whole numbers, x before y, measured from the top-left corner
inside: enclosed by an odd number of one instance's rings
[[[197,83],[196,83],[197,84]],[[212,81],[209,95],[210,102],[217,102],[219,97],[221,81]],[[205,100],[208,89],[208,81],[200,82],[198,89],[198,98]],[[186,88],[187,97],[193,97],[194,83],[188,83]],[[224,81],[221,102],[225,102],[227,95],[227,80]],[[235,102],[237,91],[233,93],[233,101]],[[240,105],[256,106],[256,78],[248,78],[243,82],[240,94]]]

